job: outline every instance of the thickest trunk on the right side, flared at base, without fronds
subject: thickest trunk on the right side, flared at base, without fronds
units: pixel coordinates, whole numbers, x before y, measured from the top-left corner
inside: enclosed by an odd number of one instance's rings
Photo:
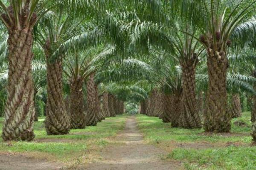
[[[204,112],[204,129],[210,132],[229,132],[231,113],[227,107],[226,78],[228,61],[226,53],[208,49],[209,85]]]

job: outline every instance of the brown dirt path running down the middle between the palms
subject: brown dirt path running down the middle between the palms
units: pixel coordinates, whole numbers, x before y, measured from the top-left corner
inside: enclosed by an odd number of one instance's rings
[[[164,151],[146,144],[134,116],[129,116],[125,130],[101,153],[101,159],[80,167],[81,170],[179,170],[179,162],[162,161]]]

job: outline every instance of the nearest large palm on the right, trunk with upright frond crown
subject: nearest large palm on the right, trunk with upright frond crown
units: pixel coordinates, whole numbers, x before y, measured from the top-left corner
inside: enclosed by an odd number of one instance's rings
[[[246,17],[250,16],[250,10],[256,1],[244,0],[231,3],[229,0],[198,0],[187,2],[173,1],[176,5],[180,3],[181,8],[178,10],[180,14],[189,8],[198,13],[197,17],[189,20],[198,26],[201,32],[200,41],[207,51],[209,86],[204,113],[206,116],[204,129],[212,132],[228,132],[231,128],[232,116],[227,107],[226,84],[229,67],[227,48],[231,45],[230,37],[234,34],[234,30]]]

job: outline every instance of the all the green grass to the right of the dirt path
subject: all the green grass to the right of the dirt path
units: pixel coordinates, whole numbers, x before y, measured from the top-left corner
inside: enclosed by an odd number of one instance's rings
[[[254,170],[256,169],[256,147],[252,142],[250,112],[232,120],[232,130],[238,136],[224,134],[205,135],[203,129],[172,128],[170,123],[163,123],[156,117],[137,115],[140,130],[145,140],[151,144],[169,150],[163,159],[175,159],[183,162],[186,170]],[[242,122],[239,126],[237,122]],[[239,136],[241,135],[241,136]],[[244,136],[245,135],[245,136]],[[201,149],[193,147],[173,147],[170,143],[215,144],[217,147]],[[236,145],[225,147],[223,143],[236,142]],[[222,144],[218,147],[218,144]],[[208,145],[209,147],[209,145]]]

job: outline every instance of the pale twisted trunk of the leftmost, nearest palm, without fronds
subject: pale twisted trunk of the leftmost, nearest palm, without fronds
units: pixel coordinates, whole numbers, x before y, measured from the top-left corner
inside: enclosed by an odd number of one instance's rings
[[[2,132],[5,141],[19,138],[31,141],[35,137],[32,42],[32,28],[9,29],[7,100]]]

